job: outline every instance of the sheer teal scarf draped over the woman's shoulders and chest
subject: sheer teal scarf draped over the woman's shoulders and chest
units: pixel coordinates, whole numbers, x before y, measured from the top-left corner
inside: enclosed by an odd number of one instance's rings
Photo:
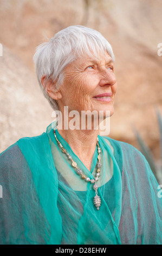
[[[59,141],[89,178],[89,170],[56,130]],[[90,182],[76,174],[52,126],[22,138],[0,155],[1,244],[161,244],[162,198],[145,157],[131,145],[99,136],[101,207]]]

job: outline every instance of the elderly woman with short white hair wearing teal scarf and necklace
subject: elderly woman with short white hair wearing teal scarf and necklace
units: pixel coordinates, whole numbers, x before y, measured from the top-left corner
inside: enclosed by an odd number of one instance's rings
[[[1,243],[160,244],[162,202],[145,157],[94,125],[100,112],[114,112],[111,45],[93,29],[70,26],[38,46],[34,62],[63,125],[1,154]],[[73,111],[79,129],[69,127]],[[81,129],[82,111],[98,113],[91,129]]]

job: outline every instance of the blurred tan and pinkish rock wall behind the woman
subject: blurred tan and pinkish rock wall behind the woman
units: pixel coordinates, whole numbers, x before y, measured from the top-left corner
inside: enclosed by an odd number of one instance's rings
[[[53,120],[35,77],[36,46],[65,27],[84,25],[101,32],[115,53],[118,93],[109,136],[138,148],[136,127],[158,159],[161,10],[161,0],[0,0],[0,150],[40,135]]]

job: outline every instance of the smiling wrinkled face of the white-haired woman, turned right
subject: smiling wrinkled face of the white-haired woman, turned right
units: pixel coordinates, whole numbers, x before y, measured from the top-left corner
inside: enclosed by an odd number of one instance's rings
[[[107,52],[100,58],[82,56],[69,64],[60,88],[59,109],[68,106],[69,112],[110,111],[114,113],[116,78],[114,63]]]

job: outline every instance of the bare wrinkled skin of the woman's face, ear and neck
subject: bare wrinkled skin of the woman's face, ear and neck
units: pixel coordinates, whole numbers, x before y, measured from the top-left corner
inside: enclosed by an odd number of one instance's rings
[[[44,84],[45,77],[45,75],[42,76],[42,84]],[[53,83],[49,82],[47,92],[57,101],[62,114],[64,114],[64,106],[68,106],[69,112],[74,110],[79,113],[81,111],[98,111],[98,113],[99,111],[110,111],[110,115],[112,115],[116,93],[116,78],[112,58],[107,52],[100,54],[99,58],[86,55],[77,58],[64,70],[64,81],[60,89],[55,92]],[[103,93],[112,93],[111,100],[95,99],[94,96]],[[93,127],[91,130],[66,130],[57,127],[57,130],[90,170],[99,130],[95,130]]]

